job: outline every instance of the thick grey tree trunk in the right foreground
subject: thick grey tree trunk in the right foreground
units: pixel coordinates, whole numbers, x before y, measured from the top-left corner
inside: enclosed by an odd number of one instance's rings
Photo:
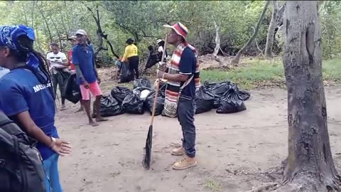
[[[339,191],[322,78],[318,1],[286,1],[283,64],[288,88],[286,187]]]

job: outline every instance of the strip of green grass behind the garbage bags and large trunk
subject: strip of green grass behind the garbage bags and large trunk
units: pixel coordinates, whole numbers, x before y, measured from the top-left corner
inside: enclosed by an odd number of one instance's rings
[[[279,85],[285,82],[281,60],[246,60],[246,65],[233,70],[202,70],[202,82],[231,80],[240,87],[252,89],[259,85]],[[328,82],[341,82],[341,58],[323,60],[323,79]]]

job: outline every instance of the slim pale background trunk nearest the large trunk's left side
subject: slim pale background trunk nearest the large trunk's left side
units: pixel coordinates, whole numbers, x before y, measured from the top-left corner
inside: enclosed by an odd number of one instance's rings
[[[265,58],[272,58],[272,46],[274,45],[274,33],[277,26],[277,12],[278,12],[278,2],[273,2],[272,16],[268,29],[268,35],[266,36],[266,46],[265,46]]]

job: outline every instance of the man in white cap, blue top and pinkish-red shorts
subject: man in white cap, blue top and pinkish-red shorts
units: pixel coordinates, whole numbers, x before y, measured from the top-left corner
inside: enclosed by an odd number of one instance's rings
[[[104,122],[104,119],[99,113],[99,107],[102,97],[102,91],[99,88],[101,80],[97,75],[96,67],[94,66],[94,48],[87,44],[87,32],[80,29],[76,32],[78,44],[72,48],[72,63],[75,65],[77,82],[80,85],[82,93],[83,105],[89,118],[89,124],[92,127],[98,126],[96,122]],[[96,122],[92,120],[90,114],[90,92],[95,97],[94,111],[96,111]]]

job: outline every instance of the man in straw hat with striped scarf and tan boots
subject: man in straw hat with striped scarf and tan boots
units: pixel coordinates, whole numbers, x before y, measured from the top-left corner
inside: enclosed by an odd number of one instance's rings
[[[186,42],[188,29],[182,23],[175,23],[168,34],[167,43],[175,47],[170,63],[158,63],[158,78],[168,80],[163,115],[178,116],[183,130],[183,145],[171,152],[175,156],[184,156],[173,165],[175,170],[196,166],[195,161],[195,125],[194,100],[195,89],[200,86],[197,51]]]

